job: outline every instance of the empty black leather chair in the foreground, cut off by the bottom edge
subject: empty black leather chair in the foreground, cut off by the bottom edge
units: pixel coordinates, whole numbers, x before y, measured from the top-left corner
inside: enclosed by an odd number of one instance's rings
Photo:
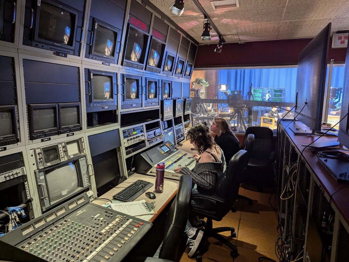
[[[177,262],[180,240],[190,212],[190,197],[192,194],[192,177],[182,175],[179,179],[177,196],[174,199],[165,221],[165,235],[161,246],[153,257],[136,257],[137,262]]]

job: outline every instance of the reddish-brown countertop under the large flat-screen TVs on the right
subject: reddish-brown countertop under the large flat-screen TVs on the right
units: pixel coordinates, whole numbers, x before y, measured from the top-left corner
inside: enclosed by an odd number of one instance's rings
[[[280,123],[283,128],[285,128],[289,122],[287,121],[281,121]],[[304,124],[301,122],[292,122],[289,126],[295,126],[295,127],[304,127]],[[298,152],[302,152],[305,146],[303,145],[309,145],[312,141],[319,138],[319,136],[299,136],[295,135],[289,128],[285,128],[285,131],[287,133],[287,136],[293,141],[293,143],[296,145]],[[317,140],[317,142],[324,141],[324,142],[336,142],[337,137],[321,137]],[[305,148],[303,151],[303,159],[307,163],[307,165],[310,167],[311,171],[317,178],[317,180],[320,182],[321,187],[324,189],[326,194],[328,196],[331,196],[336,190],[340,189],[343,186],[343,183],[338,183],[334,177],[321,165],[321,163],[318,162],[318,158],[316,154],[311,153],[311,150],[313,148],[311,146]],[[347,153],[347,152],[346,152]],[[335,205],[337,210],[340,212],[341,216],[344,218],[347,224],[349,224],[349,202],[347,201],[347,198],[349,196],[349,185],[342,188],[338,192],[336,192],[331,202]]]

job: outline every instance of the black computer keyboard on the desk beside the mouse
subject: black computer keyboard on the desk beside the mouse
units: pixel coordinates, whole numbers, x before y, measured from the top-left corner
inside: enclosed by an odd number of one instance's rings
[[[153,185],[153,183],[139,179],[122,189],[118,194],[114,195],[113,198],[124,202],[132,202],[144,192],[147,192]]]

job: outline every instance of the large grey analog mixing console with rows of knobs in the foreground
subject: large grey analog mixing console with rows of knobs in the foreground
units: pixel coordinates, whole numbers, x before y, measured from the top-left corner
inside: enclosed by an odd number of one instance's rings
[[[3,235],[0,260],[5,256],[10,260],[8,254],[12,252],[35,256],[35,261],[117,262],[151,226],[147,221],[91,204],[84,193]],[[2,241],[15,250],[4,248]]]

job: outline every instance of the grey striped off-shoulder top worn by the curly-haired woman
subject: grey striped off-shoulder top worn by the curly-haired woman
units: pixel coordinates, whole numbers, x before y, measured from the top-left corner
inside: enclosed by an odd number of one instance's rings
[[[193,171],[183,167],[179,173],[190,175],[194,183],[198,185],[198,192],[208,196],[215,196],[225,178],[226,164],[223,151],[221,150],[221,162],[196,163]]]

